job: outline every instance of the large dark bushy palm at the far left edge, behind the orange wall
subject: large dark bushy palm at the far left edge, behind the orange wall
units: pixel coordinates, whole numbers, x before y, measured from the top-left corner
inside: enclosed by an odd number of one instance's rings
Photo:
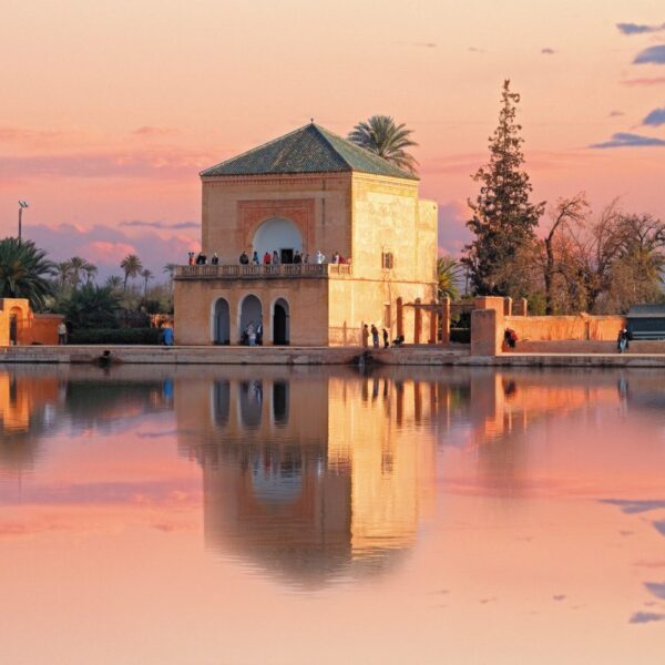
[[[0,241],[0,298],[28,298],[33,309],[51,295],[55,264],[32,241]]]

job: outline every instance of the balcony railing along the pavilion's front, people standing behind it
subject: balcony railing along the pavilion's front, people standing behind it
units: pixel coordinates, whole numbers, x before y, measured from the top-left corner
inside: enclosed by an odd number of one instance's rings
[[[350,264],[204,265],[176,266],[176,279],[243,279],[329,277],[351,275]]]

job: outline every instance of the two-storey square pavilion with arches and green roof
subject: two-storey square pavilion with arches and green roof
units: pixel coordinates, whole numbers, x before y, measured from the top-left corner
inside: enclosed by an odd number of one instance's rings
[[[264,345],[357,345],[364,324],[428,341],[408,305],[436,297],[437,204],[416,176],[313,123],[201,178],[202,249],[219,262],[177,268],[177,344],[239,344],[250,323]]]

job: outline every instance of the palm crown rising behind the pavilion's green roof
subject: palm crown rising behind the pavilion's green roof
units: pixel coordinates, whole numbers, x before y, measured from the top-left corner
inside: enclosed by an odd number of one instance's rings
[[[417,173],[418,162],[406,149],[418,145],[411,141],[412,130],[396,124],[390,115],[372,115],[367,122],[359,122],[349,133],[349,141],[383,157],[398,168]]]

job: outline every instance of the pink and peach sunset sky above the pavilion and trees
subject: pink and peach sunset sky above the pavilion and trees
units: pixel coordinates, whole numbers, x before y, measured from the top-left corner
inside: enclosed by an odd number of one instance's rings
[[[25,235],[54,258],[110,274],[137,252],[161,275],[197,246],[201,168],[311,116],[344,135],[386,113],[413,129],[458,253],[507,76],[536,198],[665,216],[664,22],[653,0],[9,0],[0,236],[25,198]]]

